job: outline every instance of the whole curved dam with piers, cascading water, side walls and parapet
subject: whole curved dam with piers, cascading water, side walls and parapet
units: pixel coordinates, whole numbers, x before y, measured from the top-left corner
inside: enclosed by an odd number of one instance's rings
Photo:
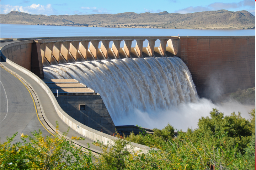
[[[1,47],[1,56],[43,88],[59,118],[79,134],[104,143],[111,140],[105,132],[113,132],[112,119],[134,113],[134,108],[157,113],[195,102],[198,96],[214,99],[255,87],[255,36],[53,37],[8,42]],[[90,87],[92,94],[73,86],[58,98],[47,83],[56,79],[75,79],[83,88]]]

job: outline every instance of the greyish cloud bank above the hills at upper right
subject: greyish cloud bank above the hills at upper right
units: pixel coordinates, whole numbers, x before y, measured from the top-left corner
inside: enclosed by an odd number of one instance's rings
[[[216,10],[234,10],[239,11],[241,7],[251,7],[255,8],[255,3],[252,0],[243,0],[240,2],[232,3],[223,3],[223,2],[214,2],[208,6],[196,6],[196,7],[187,7],[181,10],[175,11],[176,13],[192,13],[192,12],[202,12],[202,11],[216,11]],[[255,13],[254,13],[255,15]]]

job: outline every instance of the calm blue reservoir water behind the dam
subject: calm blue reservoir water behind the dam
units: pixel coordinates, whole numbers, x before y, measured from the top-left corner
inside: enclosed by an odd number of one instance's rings
[[[20,24],[0,24],[1,38],[33,38],[54,36],[242,36],[255,35],[251,30],[194,30],[194,29],[154,29],[154,28],[105,28],[37,26]]]

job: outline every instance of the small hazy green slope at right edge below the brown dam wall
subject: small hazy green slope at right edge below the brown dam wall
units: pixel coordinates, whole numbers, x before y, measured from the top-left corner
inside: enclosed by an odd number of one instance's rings
[[[231,99],[236,100],[242,104],[255,105],[255,87],[249,89],[237,89],[236,92],[230,94]]]

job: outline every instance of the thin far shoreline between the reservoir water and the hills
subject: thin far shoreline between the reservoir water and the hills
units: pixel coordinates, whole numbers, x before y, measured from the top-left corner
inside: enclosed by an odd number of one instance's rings
[[[14,23],[0,23],[0,24],[14,24]],[[31,26],[47,26],[47,25],[37,25],[37,24],[19,24],[15,23],[16,25],[31,25]],[[53,26],[53,25],[48,25]],[[64,26],[64,25],[61,25]],[[65,26],[65,27],[86,27],[86,26]],[[93,26],[87,26],[87,27],[93,27]],[[128,27],[95,27],[95,28],[128,28]],[[129,28],[139,28],[139,27],[129,27]],[[188,29],[188,30],[243,30],[243,29],[212,29],[212,28],[144,28],[144,29]],[[252,28],[255,30],[255,28]],[[244,30],[250,30],[250,29],[244,29]]]

